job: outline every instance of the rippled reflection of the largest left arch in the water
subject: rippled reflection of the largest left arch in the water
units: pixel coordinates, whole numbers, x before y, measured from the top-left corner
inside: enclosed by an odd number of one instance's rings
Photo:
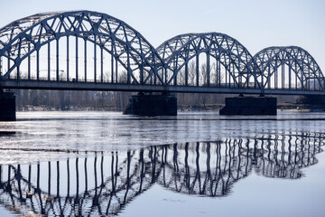
[[[1,166],[0,202],[5,205],[10,202],[8,206],[14,204],[11,207],[14,212],[32,211],[46,216],[116,214],[154,183],[157,175],[152,170],[153,149],[68,159],[66,162]],[[105,174],[107,163],[109,173]],[[47,169],[46,173],[42,167]],[[61,175],[64,170],[66,176]],[[8,180],[4,182],[5,176]],[[42,183],[46,186],[42,187]],[[15,207],[20,204],[23,210]]]

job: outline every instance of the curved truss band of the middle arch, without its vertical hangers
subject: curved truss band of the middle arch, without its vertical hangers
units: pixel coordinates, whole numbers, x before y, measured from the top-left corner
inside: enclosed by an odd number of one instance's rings
[[[209,58],[224,66],[234,80],[232,87],[244,87],[249,82],[249,75],[255,76],[247,64],[253,60],[253,56],[240,42],[224,33],[181,34],[163,42],[157,52],[162,56],[166,67],[173,72],[168,84],[200,53],[206,53]]]

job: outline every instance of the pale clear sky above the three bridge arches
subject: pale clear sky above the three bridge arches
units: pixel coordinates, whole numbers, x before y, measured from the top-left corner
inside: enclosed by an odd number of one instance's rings
[[[157,47],[182,33],[226,33],[252,55],[269,46],[300,46],[325,73],[323,0],[0,0],[0,26],[31,14],[90,10],[131,25]]]

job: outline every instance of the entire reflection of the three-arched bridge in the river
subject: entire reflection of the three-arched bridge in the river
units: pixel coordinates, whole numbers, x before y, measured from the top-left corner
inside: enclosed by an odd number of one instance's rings
[[[153,184],[177,193],[226,196],[252,171],[298,179],[301,168],[317,164],[321,134],[265,135],[207,143],[148,146],[137,151],[0,165],[0,203],[19,213],[107,215]]]

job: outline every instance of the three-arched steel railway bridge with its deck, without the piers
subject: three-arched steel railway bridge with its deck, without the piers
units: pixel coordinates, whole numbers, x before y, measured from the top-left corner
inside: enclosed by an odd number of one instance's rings
[[[223,33],[188,33],[157,48],[108,14],[33,14],[0,29],[0,88],[325,95],[300,47],[255,56]]]

